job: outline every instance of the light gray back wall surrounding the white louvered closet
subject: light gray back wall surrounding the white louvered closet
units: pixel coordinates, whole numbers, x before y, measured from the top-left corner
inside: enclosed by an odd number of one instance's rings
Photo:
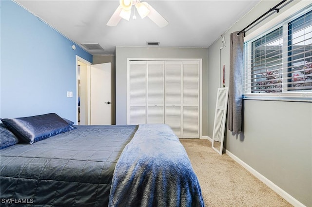
[[[207,48],[116,47],[116,124],[127,124],[127,58],[201,58],[202,135],[208,135]]]

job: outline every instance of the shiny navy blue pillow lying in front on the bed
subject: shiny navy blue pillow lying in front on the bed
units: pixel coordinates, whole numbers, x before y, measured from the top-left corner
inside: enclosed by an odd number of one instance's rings
[[[29,144],[76,129],[55,113],[0,120],[18,138]]]

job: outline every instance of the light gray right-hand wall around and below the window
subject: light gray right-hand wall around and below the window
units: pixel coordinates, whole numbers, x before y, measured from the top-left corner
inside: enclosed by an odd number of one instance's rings
[[[280,1],[261,1],[249,14],[225,33],[226,47],[221,51],[221,65],[226,66],[229,85],[230,34],[240,31]],[[287,8],[299,1],[292,1]],[[259,25],[280,15],[274,14]],[[250,31],[246,32],[248,35]],[[221,39],[208,50],[208,135],[212,137],[216,88],[219,82]],[[243,133],[226,132],[225,147],[243,162],[271,180],[307,207],[312,206],[312,103],[245,100]]]

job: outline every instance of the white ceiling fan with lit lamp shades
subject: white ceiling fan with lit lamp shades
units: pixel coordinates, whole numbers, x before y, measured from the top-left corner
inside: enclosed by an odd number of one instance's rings
[[[119,0],[119,4],[112,17],[108,20],[107,26],[117,26],[121,18],[129,21],[133,5],[137,8],[137,13],[141,18],[149,17],[159,27],[165,27],[168,24],[168,21],[147,2],[141,2],[141,0]],[[134,15],[133,18],[136,19],[137,17]]]

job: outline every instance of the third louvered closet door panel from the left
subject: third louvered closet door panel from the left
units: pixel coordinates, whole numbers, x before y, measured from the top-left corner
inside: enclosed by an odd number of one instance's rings
[[[165,62],[165,124],[182,138],[182,62]]]

